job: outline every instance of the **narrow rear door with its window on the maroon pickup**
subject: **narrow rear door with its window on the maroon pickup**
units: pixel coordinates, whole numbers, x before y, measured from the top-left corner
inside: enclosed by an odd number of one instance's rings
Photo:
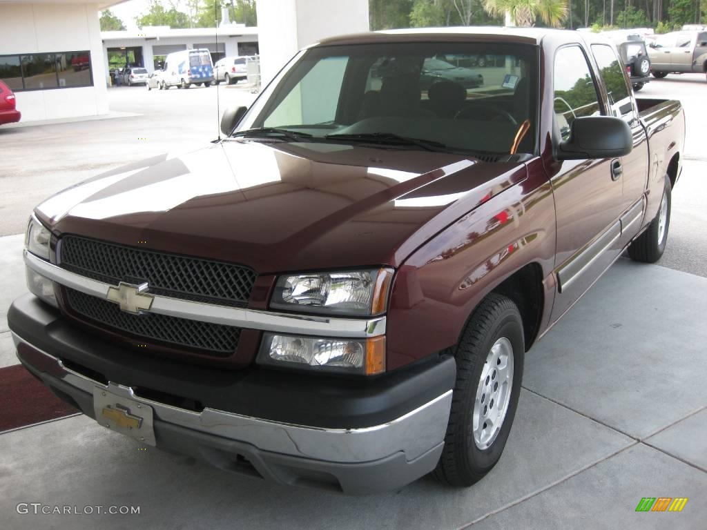
[[[624,71],[621,69],[620,59],[609,45],[592,45],[592,54],[599,67],[599,75],[604,81],[607,90],[607,114],[623,119],[631,127],[633,134],[633,151],[621,157],[621,209],[622,213],[631,213],[631,220],[635,218],[633,213],[642,211],[643,192],[648,184],[648,140],[645,137],[645,130],[638,120],[638,108],[635,100],[631,97],[631,88],[626,81]],[[640,207],[638,204],[640,203]],[[636,207],[636,211],[631,212],[631,208]],[[628,219],[624,219],[628,220]],[[633,232],[622,234],[621,239],[628,240],[635,235],[638,230],[638,222],[627,230],[622,226],[623,232]]]

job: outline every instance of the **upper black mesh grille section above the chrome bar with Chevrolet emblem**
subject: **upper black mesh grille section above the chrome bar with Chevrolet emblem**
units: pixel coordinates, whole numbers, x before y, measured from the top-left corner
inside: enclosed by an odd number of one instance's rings
[[[257,274],[223,261],[168,254],[65,235],[59,265],[94,280],[117,285],[144,283],[155,295],[245,307]]]

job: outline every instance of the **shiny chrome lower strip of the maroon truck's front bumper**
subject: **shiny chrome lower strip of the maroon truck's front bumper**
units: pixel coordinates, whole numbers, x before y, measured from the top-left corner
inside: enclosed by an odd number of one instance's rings
[[[96,387],[106,389],[150,406],[155,419],[164,423],[252,444],[261,451],[317,461],[358,464],[385,459],[399,452],[404,453],[407,461],[413,461],[443,442],[452,404],[452,391],[449,390],[388,423],[356,429],[291,425],[214,408],[194,412],[144,399],[132,388],[121,384],[109,382],[106,385],[90,379],[70,370],[61,359],[39,350],[16,333],[13,332],[12,336],[15,346],[25,343],[31,348],[23,353],[23,362],[87,394],[93,394]]]

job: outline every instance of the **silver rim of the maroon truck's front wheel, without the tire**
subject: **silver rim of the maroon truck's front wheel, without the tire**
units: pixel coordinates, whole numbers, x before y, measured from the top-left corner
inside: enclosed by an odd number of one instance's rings
[[[472,416],[474,443],[489,449],[501,432],[513,389],[513,345],[501,337],[486,355]]]

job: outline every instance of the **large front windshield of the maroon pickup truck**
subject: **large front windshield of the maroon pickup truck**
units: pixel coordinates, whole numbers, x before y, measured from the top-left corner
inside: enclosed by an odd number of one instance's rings
[[[285,129],[307,141],[404,137],[440,151],[534,153],[536,54],[488,42],[315,47],[271,83],[238,134]]]

